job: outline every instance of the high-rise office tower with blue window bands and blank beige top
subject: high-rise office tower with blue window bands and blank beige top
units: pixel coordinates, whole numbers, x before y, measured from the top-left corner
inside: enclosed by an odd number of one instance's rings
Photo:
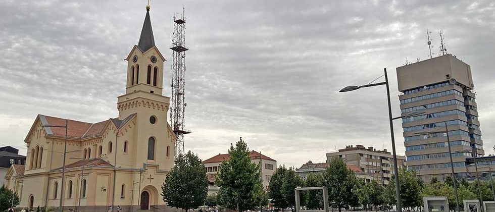
[[[466,158],[484,155],[471,67],[443,55],[397,68],[397,79],[402,115],[424,112],[403,119],[408,168],[425,181],[451,175],[447,125],[456,177],[469,177]]]

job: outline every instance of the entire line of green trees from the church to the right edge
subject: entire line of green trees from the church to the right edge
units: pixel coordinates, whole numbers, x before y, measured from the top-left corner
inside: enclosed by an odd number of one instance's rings
[[[240,139],[235,146],[231,144],[229,160],[222,162],[215,184],[220,187],[218,195],[207,196],[209,182],[205,166],[200,158],[188,152],[180,155],[162,186],[163,200],[168,205],[186,211],[202,205],[235,209],[237,211],[254,210],[272,203],[276,208],[295,206],[294,189],[301,187],[328,188],[328,201],[334,208],[364,206],[372,208],[381,205],[395,205],[395,182],[392,177],[384,187],[375,181],[365,183],[356,173],[349,170],[341,158],[333,158],[330,166],[322,174],[309,174],[303,180],[292,168],[279,167],[271,177],[268,193],[264,191],[260,165],[251,162],[250,150]],[[455,196],[452,177],[441,183],[435,178],[424,183],[415,171],[399,170],[401,200],[404,208],[422,206],[424,196],[447,196],[449,206],[455,208]],[[491,183],[480,183],[483,201],[493,200]],[[323,208],[321,190],[303,192],[301,205],[308,209]],[[459,200],[462,207],[464,199],[478,197],[477,183],[466,180],[458,183]]]

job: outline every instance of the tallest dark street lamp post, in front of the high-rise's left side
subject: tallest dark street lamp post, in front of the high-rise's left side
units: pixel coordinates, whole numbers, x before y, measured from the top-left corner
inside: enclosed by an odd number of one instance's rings
[[[393,137],[393,120],[395,119],[401,119],[401,118],[407,118],[411,116],[416,116],[419,114],[423,114],[424,112],[421,111],[413,111],[409,113],[408,115],[401,116],[401,117],[396,117],[392,118],[392,107],[390,103],[390,88],[388,85],[388,76],[387,76],[387,69],[384,69],[385,72],[385,82],[380,82],[380,83],[373,83],[373,84],[367,84],[367,85],[361,85],[361,86],[347,86],[342,88],[339,92],[348,92],[348,91],[353,91],[357,90],[359,88],[364,88],[364,87],[373,87],[373,86],[378,86],[378,85],[386,85],[387,87],[387,100],[388,100],[388,121],[390,124],[390,137],[391,137],[391,142],[392,142],[392,154],[393,154],[393,172],[395,173],[394,179],[395,179],[395,194],[397,195],[397,210],[399,212],[402,211],[402,204],[401,204],[401,188],[399,186],[399,169],[397,165],[397,153],[395,152],[395,138]]]

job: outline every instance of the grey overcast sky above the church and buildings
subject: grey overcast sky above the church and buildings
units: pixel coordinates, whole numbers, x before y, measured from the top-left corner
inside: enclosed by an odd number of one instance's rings
[[[0,1],[0,145],[26,152],[37,114],[99,122],[118,116],[126,61],[145,0]],[[169,61],[173,15],[186,7],[186,150],[204,160],[239,136],[278,164],[324,162],[363,144],[391,149],[385,87],[337,91],[427,58],[426,29],[471,65],[486,154],[495,144],[493,1],[151,1],[155,43]],[[380,80],[383,80],[380,79]],[[401,123],[394,125],[404,154]]]

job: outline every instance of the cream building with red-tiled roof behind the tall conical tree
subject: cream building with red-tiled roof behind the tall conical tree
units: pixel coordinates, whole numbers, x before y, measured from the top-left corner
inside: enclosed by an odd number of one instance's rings
[[[251,163],[260,165],[261,178],[263,179],[263,189],[267,190],[268,185],[270,184],[270,179],[277,170],[277,161],[257,151],[251,151],[249,156],[251,158]],[[217,154],[203,161],[206,169],[206,176],[210,182],[210,186],[208,187],[209,194],[217,193],[220,189],[220,187],[215,185],[215,180],[220,171],[220,164],[227,160],[229,160],[229,154]]]

